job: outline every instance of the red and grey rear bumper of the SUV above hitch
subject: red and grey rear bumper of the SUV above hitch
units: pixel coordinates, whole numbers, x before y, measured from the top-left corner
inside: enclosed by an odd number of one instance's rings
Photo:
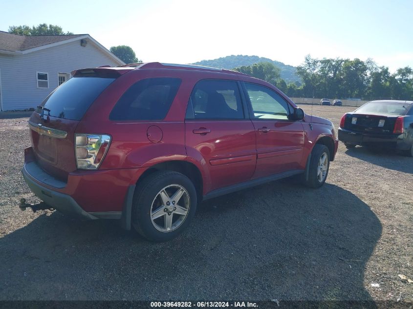
[[[120,219],[130,186],[136,184],[143,170],[76,170],[64,182],[46,173],[29,147],[24,149],[22,174],[37,197],[62,213],[85,219]]]

